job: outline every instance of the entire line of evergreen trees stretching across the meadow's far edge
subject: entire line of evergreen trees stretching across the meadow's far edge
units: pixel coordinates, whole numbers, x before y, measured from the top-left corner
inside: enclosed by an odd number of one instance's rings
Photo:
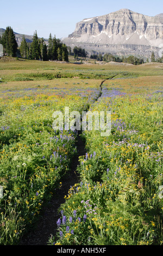
[[[3,53],[10,57],[16,57],[21,55],[22,58],[35,59],[35,60],[60,60],[68,62],[68,55],[73,55],[74,58],[88,57],[88,53],[84,48],[75,46],[73,51],[70,46],[63,44],[60,39],[56,39],[55,36],[52,38],[52,34],[49,35],[48,44],[46,44],[43,38],[39,39],[37,32],[33,35],[33,41],[27,42],[26,39],[22,38],[20,47],[18,48],[15,34],[11,27],[7,27],[5,32],[0,36],[0,44],[3,45]],[[137,58],[133,55],[128,57],[117,57],[111,53],[102,54],[91,54],[90,59],[97,59],[104,62],[123,62],[134,65],[140,65],[144,63],[142,58]],[[147,62],[149,60],[147,59]],[[155,58],[154,52],[151,54],[151,62],[163,62],[163,57]]]

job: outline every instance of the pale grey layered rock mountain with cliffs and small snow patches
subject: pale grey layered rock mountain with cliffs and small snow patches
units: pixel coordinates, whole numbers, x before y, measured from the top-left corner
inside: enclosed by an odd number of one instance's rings
[[[133,54],[158,57],[163,43],[163,16],[154,17],[121,9],[114,13],[80,21],[75,31],[62,39],[67,45],[85,48],[89,53]]]

